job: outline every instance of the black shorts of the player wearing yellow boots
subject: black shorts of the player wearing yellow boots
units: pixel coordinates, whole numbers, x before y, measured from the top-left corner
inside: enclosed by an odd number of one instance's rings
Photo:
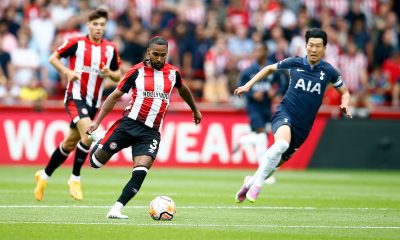
[[[85,117],[89,117],[91,120],[96,116],[98,108],[90,107],[86,104],[86,101],[76,100],[76,99],[67,99],[65,102],[65,110],[71,117],[71,123],[69,125],[70,128],[75,128],[76,123]]]

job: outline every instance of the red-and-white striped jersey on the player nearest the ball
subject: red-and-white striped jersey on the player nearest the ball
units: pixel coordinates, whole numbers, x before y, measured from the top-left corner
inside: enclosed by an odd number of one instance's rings
[[[172,89],[183,84],[178,68],[165,63],[161,70],[148,67],[148,60],[132,66],[123,76],[118,90],[128,93],[132,99],[125,108],[124,116],[159,130],[169,106]]]

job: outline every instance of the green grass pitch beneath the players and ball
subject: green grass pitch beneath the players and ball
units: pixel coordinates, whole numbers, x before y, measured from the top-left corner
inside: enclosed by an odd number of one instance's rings
[[[124,213],[105,215],[129,168],[83,169],[83,201],[68,193],[70,168],[57,170],[45,198],[33,197],[37,167],[0,167],[0,239],[400,239],[399,171],[280,171],[256,203],[234,194],[250,170],[152,169]],[[157,195],[177,205],[154,221]]]

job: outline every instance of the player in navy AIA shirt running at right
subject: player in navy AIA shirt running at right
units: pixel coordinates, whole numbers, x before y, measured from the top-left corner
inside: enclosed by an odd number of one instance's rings
[[[256,82],[280,69],[286,69],[290,75],[288,90],[272,117],[275,142],[267,150],[265,159],[254,175],[245,178],[242,188],[235,196],[237,202],[242,202],[246,198],[254,202],[263,187],[264,180],[289,160],[303,144],[329,83],[332,83],[341,94],[340,110],[351,118],[350,93],[340,73],[322,60],[326,50],[327,34],[319,28],[312,28],[306,32],[305,37],[307,51],[305,57],[291,57],[268,65],[245,85],[235,89],[235,94],[241,96]]]

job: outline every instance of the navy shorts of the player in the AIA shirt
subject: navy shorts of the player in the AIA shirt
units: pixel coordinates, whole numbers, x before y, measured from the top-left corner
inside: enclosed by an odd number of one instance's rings
[[[289,148],[282,154],[282,159],[287,161],[304,143],[309,132],[302,131],[296,127],[296,125],[293,124],[291,117],[286,112],[277,111],[272,117],[272,132],[275,134],[278,128],[283,125],[288,125],[290,127],[292,135]]]

